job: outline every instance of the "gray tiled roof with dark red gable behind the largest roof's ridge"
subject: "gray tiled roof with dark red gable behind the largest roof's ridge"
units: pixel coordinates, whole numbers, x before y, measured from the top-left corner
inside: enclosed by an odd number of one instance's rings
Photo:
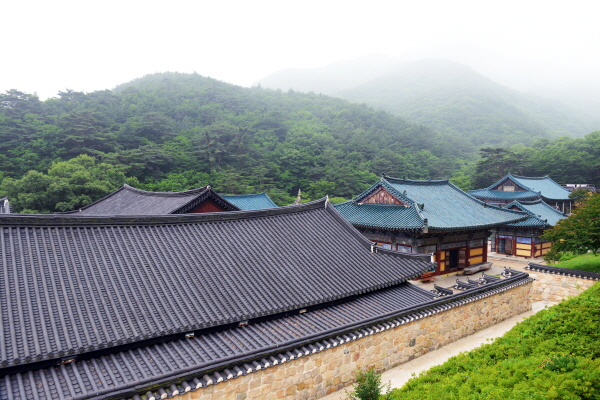
[[[108,196],[68,214],[77,215],[163,215],[183,214],[211,199],[227,211],[239,207],[223,199],[210,186],[184,192],[148,192],[127,184]]]

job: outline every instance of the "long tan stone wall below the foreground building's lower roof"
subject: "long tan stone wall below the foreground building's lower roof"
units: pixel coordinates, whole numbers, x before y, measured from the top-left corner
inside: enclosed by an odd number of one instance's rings
[[[318,399],[353,383],[357,368],[395,367],[531,310],[531,282],[236,379],[179,400]]]

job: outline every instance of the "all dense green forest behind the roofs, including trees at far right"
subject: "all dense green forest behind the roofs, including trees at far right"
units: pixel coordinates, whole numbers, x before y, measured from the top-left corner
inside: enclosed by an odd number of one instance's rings
[[[161,73],[46,101],[0,94],[0,197],[15,211],[65,211],[128,182],[159,191],[206,184],[222,193],[267,191],[289,204],[298,189],[305,198],[352,197],[381,173],[452,177],[468,189],[497,179],[498,163],[596,183],[599,138],[540,139],[507,150],[508,161],[480,158],[464,136],[365,105]]]

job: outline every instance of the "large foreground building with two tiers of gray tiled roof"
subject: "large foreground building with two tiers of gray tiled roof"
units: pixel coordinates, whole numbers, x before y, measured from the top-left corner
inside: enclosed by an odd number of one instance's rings
[[[407,282],[428,256],[374,247],[326,199],[0,230],[2,399],[177,397],[452,308]]]

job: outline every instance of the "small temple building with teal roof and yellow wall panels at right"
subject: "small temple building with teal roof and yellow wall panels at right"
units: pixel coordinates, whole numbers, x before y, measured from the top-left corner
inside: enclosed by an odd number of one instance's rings
[[[545,256],[552,248],[552,243],[542,240],[541,235],[544,230],[566,218],[566,214],[549,206],[541,199],[513,201],[506,208],[523,211],[529,215],[529,218],[494,230],[492,251],[525,258]]]

